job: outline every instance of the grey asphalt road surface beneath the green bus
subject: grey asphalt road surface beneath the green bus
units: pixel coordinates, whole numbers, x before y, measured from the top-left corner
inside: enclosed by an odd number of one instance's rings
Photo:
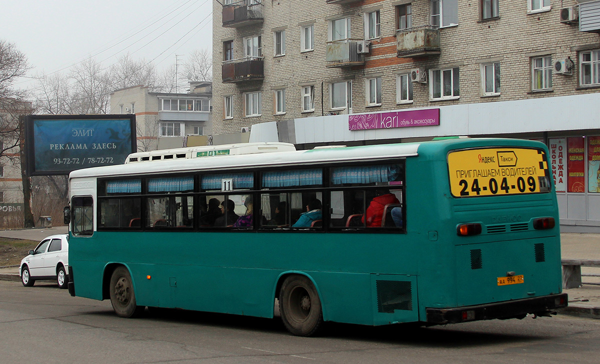
[[[598,363],[600,320],[557,316],[445,327],[329,324],[316,338],[280,320],[173,311],[118,318],[109,301],[56,284],[0,281],[0,362]]]

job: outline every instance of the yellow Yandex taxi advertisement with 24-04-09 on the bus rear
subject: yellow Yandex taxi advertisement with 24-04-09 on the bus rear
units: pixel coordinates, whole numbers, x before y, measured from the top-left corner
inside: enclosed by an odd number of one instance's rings
[[[550,191],[547,155],[541,149],[482,148],[448,154],[454,197]]]

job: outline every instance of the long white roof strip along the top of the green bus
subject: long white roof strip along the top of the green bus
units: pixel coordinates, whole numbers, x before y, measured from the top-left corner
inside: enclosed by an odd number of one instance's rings
[[[250,143],[254,144],[254,143]],[[285,143],[282,143],[285,144]],[[379,160],[383,158],[412,157],[418,155],[420,143],[370,145],[307,151],[259,152],[254,154],[218,155],[205,158],[173,158],[155,160],[148,163],[127,163],[116,166],[92,167],[74,170],[70,178],[127,176],[140,174],[161,174],[200,170],[218,171],[221,169],[253,169],[256,167],[295,166],[341,161]],[[223,146],[215,146],[220,150]],[[187,149],[187,148],[184,148]],[[198,151],[196,151],[198,152]],[[151,152],[148,152],[151,153]],[[133,154],[132,154],[133,155]],[[131,157],[131,155],[130,155]]]

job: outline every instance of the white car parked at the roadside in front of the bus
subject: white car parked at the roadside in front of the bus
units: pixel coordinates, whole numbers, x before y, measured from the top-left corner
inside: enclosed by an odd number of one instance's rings
[[[59,288],[67,288],[69,266],[69,236],[58,234],[41,240],[29,251],[19,266],[21,282],[31,287],[38,279],[56,279]]]

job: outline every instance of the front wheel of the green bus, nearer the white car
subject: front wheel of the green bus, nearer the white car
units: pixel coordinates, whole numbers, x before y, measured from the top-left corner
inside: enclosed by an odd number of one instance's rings
[[[136,305],[136,294],[129,270],[124,266],[117,267],[110,276],[110,303],[119,317],[138,317],[144,306]]]

